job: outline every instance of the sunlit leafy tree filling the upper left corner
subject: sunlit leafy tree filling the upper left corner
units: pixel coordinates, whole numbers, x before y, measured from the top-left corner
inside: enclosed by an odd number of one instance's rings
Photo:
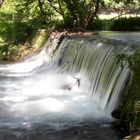
[[[5,42],[24,42],[48,22],[47,11],[45,0],[5,0],[0,9],[0,37]]]

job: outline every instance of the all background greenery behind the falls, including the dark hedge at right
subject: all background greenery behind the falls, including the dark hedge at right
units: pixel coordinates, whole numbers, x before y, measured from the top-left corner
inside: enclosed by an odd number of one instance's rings
[[[11,54],[8,49],[13,47],[9,46],[32,42],[44,28],[140,30],[139,19],[118,19],[113,24],[98,19],[101,8],[110,8],[110,3],[111,8],[139,7],[138,0],[4,0],[0,5],[0,55]]]

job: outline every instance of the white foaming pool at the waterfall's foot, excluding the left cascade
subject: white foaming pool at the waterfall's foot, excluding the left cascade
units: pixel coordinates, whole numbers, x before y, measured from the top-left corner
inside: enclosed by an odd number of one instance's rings
[[[88,82],[80,79],[78,87],[72,75],[55,72],[4,78],[0,85],[0,123],[19,125],[103,117],[88,96]]]

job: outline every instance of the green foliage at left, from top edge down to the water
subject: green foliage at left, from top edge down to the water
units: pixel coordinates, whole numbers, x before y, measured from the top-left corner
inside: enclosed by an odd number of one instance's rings
[[[44,16],[48,9],[51,11],[45,0],[4,1],[0,9],[0,59],[9,60],[20,44],[32,43],[38,30],[46,28],[46,19],[51,16]]]

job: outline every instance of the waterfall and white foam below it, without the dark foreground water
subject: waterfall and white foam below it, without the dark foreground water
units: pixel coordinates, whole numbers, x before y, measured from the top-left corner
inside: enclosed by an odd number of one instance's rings
[[[85,44],[85,48],[81,44]],[[56,44],[53,50],[55,47]],[[21,63],[1,65],[0,124],[28,127],[31,123],[111,118],[105,109],[109,96],[112,97],[110,111],[128,76],[127,67],[120,72],[120,68],[113,65],[112,50],[101,42],[64,39],[55,59],[50,57],[52,50],[44,48]],[[62,63],[56,69],[59,57]],[[105,81],[106,75],[110,78]],[[104,82],[109,86],[104,86]]]

